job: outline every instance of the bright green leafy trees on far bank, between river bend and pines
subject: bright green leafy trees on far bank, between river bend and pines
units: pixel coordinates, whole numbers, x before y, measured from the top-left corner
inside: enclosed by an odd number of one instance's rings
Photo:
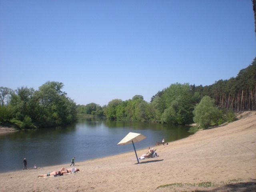
[[[151,103],[146,102],[140,95],[126,101],[112,100],[106,106],[104,114],[112,120],[190,124],[193,107],[199,97],[198,93],[193,97],[188,84],[176,83],[158,92]]]

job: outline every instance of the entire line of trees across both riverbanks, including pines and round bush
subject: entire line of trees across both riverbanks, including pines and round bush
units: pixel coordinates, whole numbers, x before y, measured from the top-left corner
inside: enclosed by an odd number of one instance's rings
[[[76,121],[77,113],[111,120],[191,124],[202,127],[234,120],[234,112],[256,110],[256,58],[229,80],[210,86],[171,84],[146,102],[141,95],[107,105],[77,105],[62,91],[61,82],[46,82],[38,90],[0,87],[0,123],[16,122],[20,128],[47,127]]]

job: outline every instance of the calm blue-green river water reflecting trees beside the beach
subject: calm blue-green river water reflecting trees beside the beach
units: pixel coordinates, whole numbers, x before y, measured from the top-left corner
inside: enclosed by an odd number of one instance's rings
[[[22,170],[24,157],[27,168],[32,168],[34,164],[38,167],[68,165],[72,157],[79,164],[79,161],[133,151],[132,144],[117,145],[129,132],[147,136],[135,143],[136,149],[142,149],[161,142],[163,137],[166,142],[185,138],[191,135],[188,130],[189,126],[87,118],[70,126],[4,134],[0,135],[0,172]]]

